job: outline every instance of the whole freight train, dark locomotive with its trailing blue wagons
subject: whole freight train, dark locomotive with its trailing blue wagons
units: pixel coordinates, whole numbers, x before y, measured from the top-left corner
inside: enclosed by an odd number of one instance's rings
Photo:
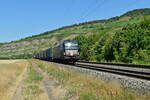
[[[44,52],[34,56],[36,59],[74,63],[80,59],[79,44],[77,41],[64,40],[57,43],[53,48],[48,48]]]

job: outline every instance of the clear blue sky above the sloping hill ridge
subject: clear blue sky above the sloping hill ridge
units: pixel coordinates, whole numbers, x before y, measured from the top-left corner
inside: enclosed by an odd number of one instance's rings
[[[150,8],[149,0],[0,0],[0,42]]]

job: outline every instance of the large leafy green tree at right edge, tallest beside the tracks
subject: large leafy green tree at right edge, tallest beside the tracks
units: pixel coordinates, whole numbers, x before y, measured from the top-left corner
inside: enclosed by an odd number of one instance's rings
[[[113,45],[115,56],[121,62],[147,61],[150,58],[150,18],[145,17],[139,24],[124,27],[115,34]]]

